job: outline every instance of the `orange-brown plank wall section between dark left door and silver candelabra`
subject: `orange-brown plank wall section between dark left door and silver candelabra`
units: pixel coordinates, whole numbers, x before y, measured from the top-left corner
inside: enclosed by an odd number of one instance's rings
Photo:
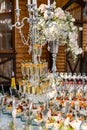
[[[21,9],[20,19],[22,19],[24,16],[27,16],[27,9],[26,9],[26,1],[21,0],[19,2]],[[16,18],[15,18],[16,20]],[[26,37],[28,33],[28,25],[25,26],[23,29],[23,34]],[[19,31],[15,29],[15,51],[16,51],[16,78],[19,79],[21,77],[21,62],[23,60],[27,60],[31,58],[31,55],[28,54],[28,47],[23,45]]]

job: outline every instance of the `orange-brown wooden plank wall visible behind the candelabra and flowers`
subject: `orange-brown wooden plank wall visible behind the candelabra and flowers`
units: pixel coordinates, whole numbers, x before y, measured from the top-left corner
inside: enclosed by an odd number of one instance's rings
[[[68,0],[58,0],[57,1],[57,6],[62,7]],[[27,1],[25,0],[20,0],[20,9],[21,9],[21,15],[20,15],[20,19],[22,19],[24,16],[28,16],[27,13],[27,8],[26,8],[26,3]],[[38,0],[38,5],[40,5],[41,3],[47,3],[46,0]],[[73,8],[73,6],[75,6],[74,4],[72,6],[70,6],[70,8]],[[68,8],[68,9],[70,9]],[[16,21],[16,18],[15,18]],[[25,35],[25,37],[28,34],[28,24],[27,26],[25,26],[23,29],[23,34]],[[66,53],[64,51],[65,47],[64,46],[59,46],[59,52],[57,55],[57,71],[59,72],[64,72],[66,71]],[[31,59],[31,54],[29,55],[28,53],[28,46],[23,45],[20,35],[19,35],[19,31],[17,29],[15,29],[15,51],[16,51],[16,79],[18,80],[19,78],[22,77],[21,75],[21,61],[23,60],[29,60]],[[43,54],[42,54],[42,58],[46,59],[49,63],[50,63],[50,54],[47,51],[47,46],[45,46],[43,48]],[[50,65],[49,65],[50,66]]]

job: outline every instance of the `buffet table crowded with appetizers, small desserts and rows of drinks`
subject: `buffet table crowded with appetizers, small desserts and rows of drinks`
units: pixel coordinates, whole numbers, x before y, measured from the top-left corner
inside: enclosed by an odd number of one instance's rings
[[[56,77],[55,80],[50,75],[50,85],[42,81],[40,93],[28,93],[26,89],[20,98],[1,95],[1,130],[9,130],[14,105],[16,130],[27,130],[25,126],[28,123],[28,130],[87,130],[87,76],[60,76],[61,79]],[[27,87],[27,84],[20,87]]]

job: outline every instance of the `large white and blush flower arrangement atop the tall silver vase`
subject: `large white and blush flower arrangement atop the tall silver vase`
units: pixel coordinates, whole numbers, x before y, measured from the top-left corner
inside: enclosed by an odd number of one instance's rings
[[[82,53],[78,46],[78,31],[81,31],[82,27],[74,25],[75,19],[69,12],[56,7],[56,2],[51,4],[50,10],[48,5],[41,4],[38,8],[38,18],[36,30],[39,35],[36,34],[36,39],[39,43],[43,45],[56,40],[59,44],[66,44],[74,59]]]

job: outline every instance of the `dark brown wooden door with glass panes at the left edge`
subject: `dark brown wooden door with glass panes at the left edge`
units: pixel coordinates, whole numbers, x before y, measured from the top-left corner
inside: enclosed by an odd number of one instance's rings
[[[16,53],[13,41],[13,31],[10,29],[10,25],[13,21],[13,1],[6,0],[6,6],[3,7],[2,1],[0,1],[0,84],[10,84],[11,74],[14,71],[16,75]],[[12,5],[12,6],[11,6]],[[2,43],[2,44],[1,44]]]

